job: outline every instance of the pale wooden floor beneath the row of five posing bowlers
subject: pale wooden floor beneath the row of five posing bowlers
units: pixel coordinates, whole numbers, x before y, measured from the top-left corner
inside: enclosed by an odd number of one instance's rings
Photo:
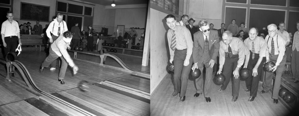
[[[245,81],[240,81],[239,98],[235,103],[231,102],[232,82],[222,92],[217,91],[221,86],[212,83],[211,102],[207,103],[202,94],[199,97],[193,97],[196,91],[194,82],[188,80],[186,100],[179,102],[178,96],[170,97],[174,90],[172,78],[167,77],[155,96],[152,97],[150,101],[151,116],[283,116],[289,113],[289,110],[280,101],[276,105],[273,104],[272,92],[259,93],[262,90],[262,84],[259,84],[254,101],[248,102],[250,93],[245,92]]]

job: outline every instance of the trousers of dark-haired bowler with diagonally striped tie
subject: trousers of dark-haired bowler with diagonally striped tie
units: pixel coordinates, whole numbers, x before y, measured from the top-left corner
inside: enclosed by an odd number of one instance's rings
[[[189,59],[189,65],[184,66],[184,60],[186,58],[187,49],[174,51],[173,65],[174,65],[174,92],[180,93],[180,97],[185,96],[188,84],[188,77],[190,74],[193,57],[191,55]]]

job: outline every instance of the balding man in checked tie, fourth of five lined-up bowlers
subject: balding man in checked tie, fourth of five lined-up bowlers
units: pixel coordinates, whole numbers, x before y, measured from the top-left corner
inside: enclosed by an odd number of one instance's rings
[[[257,36],[257,28],[250,28],[248,34],[249,37],[244,40],[244,45],[250,51],[250,54],[246,55],[243,68],[248,68],[250,70],[250,74],[252,74],[245,80],[245,92],[250,92],[248,102],[252,102],[257,96],[260,75],[263,70],[263,64],[266,61],[267,44],[265,39]]]

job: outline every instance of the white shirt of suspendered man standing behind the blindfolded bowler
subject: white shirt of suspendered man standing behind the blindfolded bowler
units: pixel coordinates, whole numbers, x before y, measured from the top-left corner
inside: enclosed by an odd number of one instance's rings
[[[53,21],[49,24],[49,26],[48,26],[48,28],[46,30],[47,36],[49,38],[52,38],[51,33],[54,36],[58,36],[58,27],[60,27],[60,35],[62,35],[65,31],[68,31],[68,27],[67,27],[65,21],[62,21],[61,23],[59,23],[59,22],[57,22],[57,19],[53,19]]]

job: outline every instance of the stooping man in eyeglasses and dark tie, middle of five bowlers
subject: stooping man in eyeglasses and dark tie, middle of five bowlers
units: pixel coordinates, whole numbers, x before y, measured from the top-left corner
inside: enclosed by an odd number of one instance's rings
[[[244,43],[239,38],[233,37],[231,31],[227,30],[223,32],[219,48],[219,70],[217,74],[221,74],[223,69],[223,74],[226,79],[221,88],[217,91],[221,92],[226,89],[231,80],[232,70],[234,70],[234,83],[232,83],[233,99],[231,102],[236,102],[239,96],[239,69],[244,63],[245,54],[248,54],[248,50],[245,48]]]

